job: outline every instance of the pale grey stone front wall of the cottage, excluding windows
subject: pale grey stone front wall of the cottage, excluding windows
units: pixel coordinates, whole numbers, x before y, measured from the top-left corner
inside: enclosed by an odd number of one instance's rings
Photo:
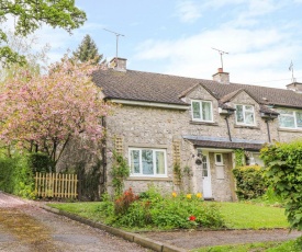
[[[144,192],[148,185],[159,187],[165,193],[183,191],[197,193],[202,191],[202,174],[195,165],[197,149],[182,136],[209,136],[228,138],[226,122],[219,114],[219,102],[203,87],[197,87],[186,98],[189,104],[191,100],[212,101],[213,122],[199,123],[192,121],[192,112],[189,110],[171,110],[150,106],[123,105],[116,107],[113,115],[107,117],[107,186],[109,193],[113,193],[111,185],[112,152],[115,148],[114,139],[122,139],[122,154],[128,159],[128,148],[160,148],[167,151],[167,177],[133,177],[125,181],[125,187],[132,186],[136,193]],[[268,141],[266,122],[260,117],[259,104],[246,92],[238,93],[228,105],[250,104],[255,107],[255,126],[236,125],[235,114],[228,118],[231,135],[233,138]],[[279,129],[278,119],[269,123],[270,138],[277,141],[287,141],[302,137],[300,130]],[[180,141],[180,167],[183,171],[181,184],[175,183],[174,150],[176,140]],[[224,165],[217,168],[214,163],[215,150],[209,149],[213,197],[216,201],[234,201],[234,177],[232,174],[232,153],[223,152]],[[220,152],[220,150],[216,150]],[[220,169],[220,171],[217,170]],[[221,173],[223,171],[223,179]],[[220,177],[217,177],[220,172]]]

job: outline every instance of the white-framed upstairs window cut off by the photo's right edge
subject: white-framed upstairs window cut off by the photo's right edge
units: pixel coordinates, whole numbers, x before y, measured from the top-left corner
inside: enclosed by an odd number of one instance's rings
[[[281,128],[302,129],[302,111],[279,111],[279,125]]]

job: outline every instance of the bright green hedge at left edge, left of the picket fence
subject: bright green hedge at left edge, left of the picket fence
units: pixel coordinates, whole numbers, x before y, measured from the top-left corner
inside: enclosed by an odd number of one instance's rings
[[[0,190],[34,198],[34,176],[24,157],[0,159]]]

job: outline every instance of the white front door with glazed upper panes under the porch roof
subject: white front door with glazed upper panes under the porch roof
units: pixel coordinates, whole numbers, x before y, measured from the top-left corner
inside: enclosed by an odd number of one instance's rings
[[[212,197],[211,169],[209,152],[202,151],[202,191],[203,197]]]

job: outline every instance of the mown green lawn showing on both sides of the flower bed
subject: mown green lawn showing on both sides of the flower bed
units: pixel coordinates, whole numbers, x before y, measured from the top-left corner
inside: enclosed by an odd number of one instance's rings
[[[107,224],[98,209],[103,203],[64,203],[49,206]],[[210,203],[209,203],[210,204]],[[213,204],[213,203],[211,203]],[[226,227],[232,229],[288,228],[284,209],[247,203],[215,203],[221,209]]]

